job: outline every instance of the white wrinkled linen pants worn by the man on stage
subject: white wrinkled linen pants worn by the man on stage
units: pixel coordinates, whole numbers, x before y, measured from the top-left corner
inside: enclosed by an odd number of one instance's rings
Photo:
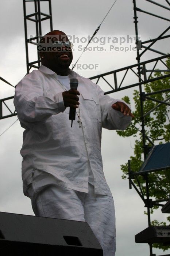
[[[89,193],[84,193],[57,184],[40,190],[35,188],[33,181],[28,193],[36,216],[86,221],[100,243],[103,255],[115,255],[115,208],[111,196],[94,195],[90,183]]]

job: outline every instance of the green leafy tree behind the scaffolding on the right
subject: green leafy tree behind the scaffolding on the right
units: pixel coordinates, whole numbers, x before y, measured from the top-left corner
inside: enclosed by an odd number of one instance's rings
[[[166,65],[170,67],[170,58],[166,60]],[[168,74],[165,72],[164,74]],[[155,72],[154,76],[162,76],[161,72]],[[170,88],[170,77],[165,79],[160,79],[154,82],[150,82],[143,85],[142,90],[145,93],[151,93],[155,91],[159,91],[162,89]],[[143,140],[142,140],[142,127],[141,127],[141,108],[140,108],[140,96],[139,91],[134,90],[134,103],[135,103],[135,111],[133,114],[135,118],[132,120],[131,125],[125,131],[117,131],[117,134],[122,137],[134,136],[136,137],[135,145],[134,145],[134,155],[130,157],[131,160],[131,170],[132,172],[138,172],[140,166],[144,161],[143,154]],[[166,93],[158,93],[151,95],[150,97],[165,101],[168,97],[170,97],[170,91]],[[124,101],[130,104],[129,97],[125,96]],[[170,102],[167,101],[167,102]],[[143,110],[144,113],[147,113],[152,108],[158,106],[158,102],[146,100],[143,102]],[[154,143],[154,145],[162,144],[170,142],[170,107],[161,104],[158,106],[153,112],[148,114],[145,117],[145,134],[146,136]],[[151,143],[147,140],[146,144],[148,147],[151,147]],[[169,155],[169,154],[168,154]],[[123,179],[128,177],[128,163],[121,165],[121,170],[123,175],[121,176]],[[146,184],[143,176],[138,176],[138,180],[140,182],[140,187],[142,189],[143,195],[146,196]],[[134,183],[137,187],[139,184],[136,180]],[[148,175],[148,183],[149,183],[149,193],[150,197],[153,200],[161,200],[170,198],[170,169],[162,170],[160,172],[152,172]],[[154,212],[154,209],[157,209],[159,206],[154,206],[151,208],[151,214]],[[144,214],[147,214],[144,211]],[[167,217],[167,223],[161,222],[159,223],[157,220],[151,222],[153,226],[159,225],[169,225],[170,217]],[[163,249],[163,251],[170,248],[170,246],[163,246],[163,244],[153,244],[154,248]]]

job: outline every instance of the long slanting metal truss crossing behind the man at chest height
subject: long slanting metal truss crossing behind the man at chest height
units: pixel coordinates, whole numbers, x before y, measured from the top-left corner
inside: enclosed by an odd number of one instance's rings
[[[163,78],[167,78],[170,76],[170,67],[167,67],[167,65],[164,61],[168,57],[170,57],[170,54],[167,54],[165,56],[161,56],[161,57],[158,57],[158,58],[155,58],[152,60],[143,61],[139,64],[134,64],[134,65],[130,65],[128,67],[116,69],[111,72],[93,76],[90,79],[91,80],[97,79],[96,83],[99,83],[101,80],[103,80],[111,87],[112,90],[106,91],[104,94],[110,94],[110,93],[114,93],[116,91],[129,89],[131,87],[141,86],[142,84],[146,84],[146,83],[156,81],[159,79],[163,79]],[[161,63],[163,63],[163,65],[165,65],[167,74],[162,75],[162,76],[152,77],[152,74],[155,71],[161,71],[161,70],[155,70],[155,68],[157,68],[157,64],[159,64],[159,62],[161,62]],[[150,68],[150,64],[153,65],[153,68],[147,69],[147,65]],[[140,77],[139,77],[139,69],[140,69]],[[134,75],[134,79],[136,79],[136,83],[128,84],[128,82],[126,80],[128,72],[131,72]],[[123,77],[120,82],[118,82],[118,79],[117,79],[117,76],[119,74],[121,74],[121,76]],[[107,80],[108,75],[113,75],[112,78],[110,78],[112,80],[112,83],[108,82],[108,80]],[[139,78],[141,80],[140,82],[139,82]],[[161,91],[160,91],[160,93],[161,93]],[[4,98],[4,99],[0,99],[0,119],[17,115],[14,106],[13,105],[11,106],[10,100],[12,100],[12,99],[13,99],[13,96]]]

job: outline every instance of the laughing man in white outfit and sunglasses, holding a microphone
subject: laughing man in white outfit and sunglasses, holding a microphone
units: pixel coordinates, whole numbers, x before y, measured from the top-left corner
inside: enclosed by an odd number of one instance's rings
[[[25,129],[24,195],[36,216],[88,222],[103,255],[114,256],[115,208],[103,173],[101,128],[123,130],[134,116],[124,101],[69,69],[73,45],[65,33],[54,30],[42,39],[42,65],[18,83],[14,97]],[[71,78],[77,90],[70,89]],[[70,107],[76,109],[73,127]]]

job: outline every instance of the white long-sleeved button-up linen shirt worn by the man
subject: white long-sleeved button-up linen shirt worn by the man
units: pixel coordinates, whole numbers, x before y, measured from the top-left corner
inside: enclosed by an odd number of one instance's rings
[[[121,100],[104,95],[97,84],[74,71],[69,75],[78,79],[81,127],[76,114],[71,128],[69,108],[62,98],[64,89],[51,69],[41,65],[16,86],[14,105],[25,128],[20,153],[26,196],[35,169],[52,174],[58,185],[88,193],[89,168],[95,193],[112,196],[103,173],[101,128],[123,130],[131,117],[112,108]]]

